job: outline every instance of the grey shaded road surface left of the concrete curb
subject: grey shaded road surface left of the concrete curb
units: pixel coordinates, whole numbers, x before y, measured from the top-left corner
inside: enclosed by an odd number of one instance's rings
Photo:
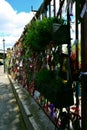
[[[3,66],[0,66],[0,130],[26,130]]]

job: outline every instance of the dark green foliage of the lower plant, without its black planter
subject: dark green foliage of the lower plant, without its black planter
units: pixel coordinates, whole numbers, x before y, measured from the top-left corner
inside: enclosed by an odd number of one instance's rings
[[[56,100],[57,92],[61,90],[62,86],[62,79],[56,79],[54,71],[42,69],[36,75],[35,88],[51,102]]]

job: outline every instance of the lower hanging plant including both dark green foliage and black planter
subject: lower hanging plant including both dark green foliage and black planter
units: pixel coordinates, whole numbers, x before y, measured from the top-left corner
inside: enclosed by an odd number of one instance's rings
[[[61,78],[56,79],[54,71],[42,69],[36,75],[35,88],[58,108],[73,104],[71,86],[65,84]]]

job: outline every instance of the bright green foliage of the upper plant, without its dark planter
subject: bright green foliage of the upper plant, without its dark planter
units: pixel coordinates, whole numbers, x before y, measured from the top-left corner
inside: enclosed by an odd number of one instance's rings
[[[64,20],[57,18],[44,18],[42,21],[34,21],[28,29],[25,45],[35,51],[42,51],[52,41],[53,23],[63,24]]]

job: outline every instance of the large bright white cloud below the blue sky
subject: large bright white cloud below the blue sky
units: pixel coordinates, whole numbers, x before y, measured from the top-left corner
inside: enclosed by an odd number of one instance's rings
[[[3,49],[3,38],[6,48],[15,44],[33,15],[32,12],[17,13],[8,2],[0,0],[0,49]]]

